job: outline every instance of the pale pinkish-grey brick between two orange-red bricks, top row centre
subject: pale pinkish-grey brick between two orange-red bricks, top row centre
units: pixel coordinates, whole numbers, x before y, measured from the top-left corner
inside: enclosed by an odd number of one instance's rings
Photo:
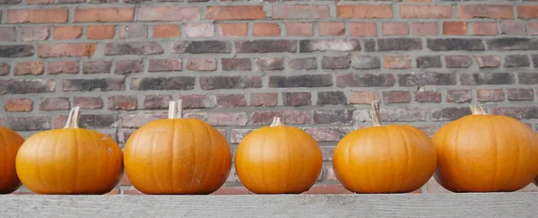
[[[331,16],[328,5],[273,5],[272,19],[325,19]]]

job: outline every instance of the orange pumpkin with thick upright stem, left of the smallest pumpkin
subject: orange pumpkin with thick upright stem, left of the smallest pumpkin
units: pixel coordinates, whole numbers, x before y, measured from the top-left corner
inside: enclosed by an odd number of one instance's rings
[[[182,100],[170,101],[169,118],[147,123],[126,142],[126,175],[152,195],[207,195],[231,170],[226,138],[213,126],[182,118]]]

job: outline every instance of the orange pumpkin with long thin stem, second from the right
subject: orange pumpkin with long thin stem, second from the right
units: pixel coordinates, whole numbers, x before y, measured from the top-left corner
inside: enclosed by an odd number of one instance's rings
[[[436,167],[430,137],[414,126],[382,126],[377,100],[371,114],[373,126],[354,130],[336,144],[336,179],[354,193],[407,193],[421,188]]]

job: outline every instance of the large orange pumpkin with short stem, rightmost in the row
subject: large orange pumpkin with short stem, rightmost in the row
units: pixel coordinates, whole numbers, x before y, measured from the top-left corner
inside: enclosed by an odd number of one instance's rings
[[[452,192],[509,192],[538,174],[538,139],[524,123],[488,115],[482,105],[472,115],[438,129],[434,178]]]

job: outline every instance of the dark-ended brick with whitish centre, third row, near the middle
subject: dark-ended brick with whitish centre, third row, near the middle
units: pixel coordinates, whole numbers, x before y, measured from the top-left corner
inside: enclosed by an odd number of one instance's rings
[[[358,51],[359,39],[303,39],[299,41],[299,52],[314,51]]]

